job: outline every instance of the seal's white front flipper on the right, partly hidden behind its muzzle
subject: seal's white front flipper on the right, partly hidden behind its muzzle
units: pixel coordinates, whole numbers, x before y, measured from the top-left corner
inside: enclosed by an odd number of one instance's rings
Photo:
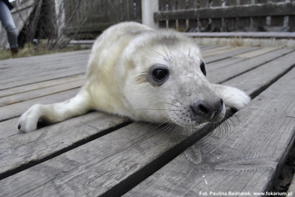
[[[241,109],[243,106],[248,104],[251,98],[243,91],[219,84],[212,84],[216,94],[223,99],[226,107]]]

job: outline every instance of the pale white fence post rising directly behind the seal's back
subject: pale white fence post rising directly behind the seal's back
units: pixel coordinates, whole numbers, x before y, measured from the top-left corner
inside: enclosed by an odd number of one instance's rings
[[[142,0],[142,22],[144,25],[158,29],[159,22],[153,19],[153,13],[159,11],[159,0]]]

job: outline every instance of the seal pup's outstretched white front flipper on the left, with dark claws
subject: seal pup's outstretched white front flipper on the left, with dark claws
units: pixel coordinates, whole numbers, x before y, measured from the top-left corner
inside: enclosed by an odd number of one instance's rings
[[[35,104],[21,116],[18,129],[25,132],[34,131],[39,119],[53,124],[83,115],[93,108],[90,103],[89,94],[82,90],[76,97],[63,102]]]

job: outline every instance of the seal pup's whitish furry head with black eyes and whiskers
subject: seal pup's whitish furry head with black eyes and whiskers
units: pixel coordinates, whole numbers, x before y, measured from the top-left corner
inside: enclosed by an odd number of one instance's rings
[[[193,39],[165,30],[142,33],[134,42],[124,50],[117,76],[129,116],[181,127],[224,118],[225,105],[206,79]]]

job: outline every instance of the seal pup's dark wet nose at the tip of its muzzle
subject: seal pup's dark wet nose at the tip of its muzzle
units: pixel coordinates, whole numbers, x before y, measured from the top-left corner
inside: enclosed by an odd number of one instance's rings
[[[192,108],[194,110],[194,113],[205,121],[214,120],[222,111],[223,100],[220,99],[213,104],[209,104],[207,102],[199,100],[193,103]]]

